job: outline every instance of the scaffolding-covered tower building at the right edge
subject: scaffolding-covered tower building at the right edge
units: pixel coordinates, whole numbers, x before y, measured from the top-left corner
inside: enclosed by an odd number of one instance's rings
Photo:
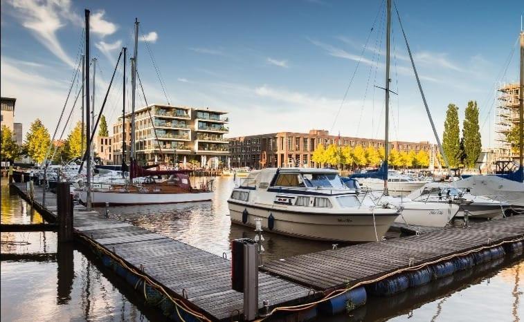
[[[497,114],[495,119],[496,159],[518,159],[518,151],[512,151],[507,140],[507,133],[511,132],[519,122],[519,90],[518,83],[501,84],[497,91]]]

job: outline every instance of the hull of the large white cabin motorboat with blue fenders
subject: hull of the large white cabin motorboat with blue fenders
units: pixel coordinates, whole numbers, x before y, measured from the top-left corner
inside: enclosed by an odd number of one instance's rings
[[[330,240],[363,243],[381,240],[397,218],[394,209],[361,209],[354,214],[314,214],[289,211],[284,207],[263,207],[228,201],[231,222],[255,227],[255,219],[262,219],[262,229],[276,234],[284,234],[312,240]],[[247,218],[243,221],[244,209]],[[269,227],[269,216],[273,215],[273,228]],[[376,227],[376,234],[375,234]]]

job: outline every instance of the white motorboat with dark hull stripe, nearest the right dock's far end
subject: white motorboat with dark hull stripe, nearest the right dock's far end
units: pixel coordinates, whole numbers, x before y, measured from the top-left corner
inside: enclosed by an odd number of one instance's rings
[[[495,218],[502,216],[509,207],[506,202],[494,200],[487,196],[476,196],[467,189],[461,190],[454,187],[455,183],[430,182],[424,187],[410,193],[407,198],[424,203],[440,203],[442,205],[453,203],[460,207],[455,215],[464,217],[464,211],[469,211],[472,218]]]

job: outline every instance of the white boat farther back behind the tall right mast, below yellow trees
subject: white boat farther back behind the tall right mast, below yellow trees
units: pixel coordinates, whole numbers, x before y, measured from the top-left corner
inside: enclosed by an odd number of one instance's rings
[[[379,178],[359,178],[359,183],[363,189],[372,191],[380,191],[384,187],[384,180]],[[388,193],[390,196],[407,196],[426,183],[428,183],[426,180],[415,180],[397,171],[388,171]]]

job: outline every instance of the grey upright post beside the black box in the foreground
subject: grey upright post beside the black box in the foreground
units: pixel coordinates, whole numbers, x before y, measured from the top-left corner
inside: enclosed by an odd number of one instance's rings
[[[258,256],[257,245],[244,245],[244,320],[258,316]]]

